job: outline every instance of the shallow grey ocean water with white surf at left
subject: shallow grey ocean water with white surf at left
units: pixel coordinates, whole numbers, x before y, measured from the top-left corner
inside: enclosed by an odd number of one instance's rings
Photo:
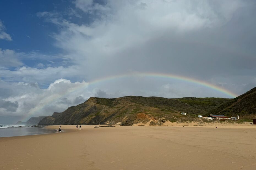
[[[0,137],[39,135],[46,133],[56,133],[57,129],[46,129],[44,127],[35,127],[32,125],[12,125],[0,124]]]

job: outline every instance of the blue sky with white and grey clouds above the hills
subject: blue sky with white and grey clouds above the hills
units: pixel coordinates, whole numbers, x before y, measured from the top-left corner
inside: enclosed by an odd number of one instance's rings
[[[0,123],[89,97],[234,98],[256,86],[256,2],[0,1]]]

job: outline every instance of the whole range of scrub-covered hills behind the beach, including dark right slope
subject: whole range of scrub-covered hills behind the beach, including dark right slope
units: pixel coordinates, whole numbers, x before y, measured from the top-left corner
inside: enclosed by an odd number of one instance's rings
[[[186,112],[187,115],[181,115]],[[43,124],[122,124],[147,123],[163,125],[166,121],[177,123],[207,123],[213,120],[198,115],[220,114],[229,117],[240,115],[237,123],[256,118],[256,87],[234,98],[168,99],[162,97],[126,96],[120,98],[91,97],[86,102],[54,113],[42,120]],[[230,122],[234,122],[231,121]]]

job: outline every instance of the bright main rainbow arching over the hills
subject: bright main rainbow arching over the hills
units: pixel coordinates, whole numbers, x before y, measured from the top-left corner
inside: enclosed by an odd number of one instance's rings
[[[111,80],[116,80],[116,79],[120,79],[120,78],[126,78],[126,77],[153,77],[153,78],[168,78],[168,79],[175,79],[175,80],[180,80],[180,81],[185,81],[188,83],[194,83],[194,84],[198,84],[200,86],[203,87],[207,87],[209,89],[213,89],[217,92],[220,92],[222,94],[225,94],[231,98],[235,98],[238,95],[227,90],[224,89],[222,87],[210,84],[206,81],[202,81],[202,80],[197,80],[194,78],[190,78],[190,77],[185,77],[185,76],[180,76],[180,75],[173,75],[173,74],[164,74],[164,73],[127,73],[127,74],[120,74],[120,75],[113,75],[113,76],[107,76],[107,77],[103,77],[103,78],[98,78],[98,79],[94,79],[92,81],[90,81],[89,83],[85,83],[84,81],[84,85],[83,86],[77,86],[73,89],[70,89],[64,93],[62,93],[61,95],[57,94],[54,95],[51,98],[47,98],[46,102],[42,102],[42,104],[40,104],[39,106],[37,106],[36,108],[32,109],[31,111],[29,111],[29,113],[26,115],[26,118],[30,118],[32,114],[40,111],[44,106],[47,106],[48,104],[50,104],[52,101],[58,100],[59,98],[62,98],[68,94],[71,94],[72,92],[75,92],[77,90],[81,90],[81,88],[86,88],[90,85],[93,84],[99,84],[105,81],[111,81]],[[23,119],[25,120],[25,118]]]

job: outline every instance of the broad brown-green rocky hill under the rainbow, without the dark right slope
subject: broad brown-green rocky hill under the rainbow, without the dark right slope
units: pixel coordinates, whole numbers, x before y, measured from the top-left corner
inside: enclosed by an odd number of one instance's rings
[[[121,98],[91,97],[86,102],[69,107],[62,113],[54,113],[39,124],[122,124],[146,123],[161,125],[164,121],[191,121],[197,114],[206,114],[230,99],[126,96]],[[180,113],[186,112],[187,116]]]

